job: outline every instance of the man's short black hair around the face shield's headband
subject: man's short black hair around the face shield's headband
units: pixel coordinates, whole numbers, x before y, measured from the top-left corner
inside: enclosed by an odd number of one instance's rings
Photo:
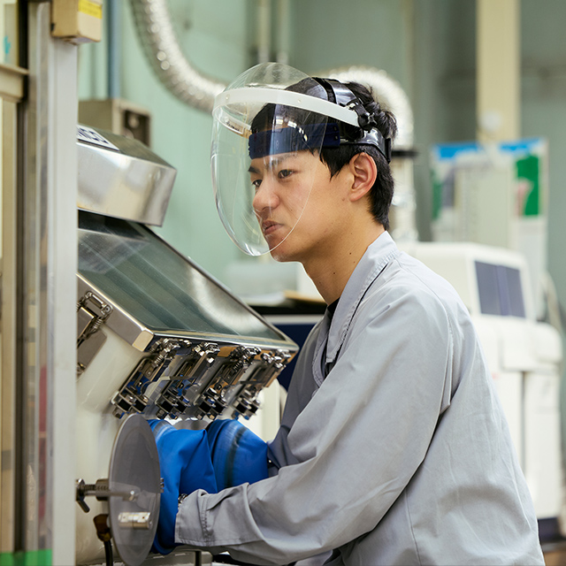
[[[357,96],[365,110],[373,117],[379,132],[384,136],[384,138],[388,138],[393,141],[395,134],[397,134],[397,124],[394,115],[390,111],[381,107],[379,102],[377,102],[374,98],[370,89],[357,82],[347,82],[344,83],[344,85],[349,88],[355,96]],[[287,89],[295,92],[302,92],[310,96],[317,96],[318,98],[328,98],[325,88],[323,88],[315,79],[302,80]],[[275,115],[283,119],[293,119],[303,125],[317,121],[316,115],[313,117],[312,112],[302,111],[301,109],[291,108],[289,106],[266,104],[264,108],[257,113],[256,118],[253,120],[252,132],[271,128],[273,124],[272,120]],[[339,126],[340,131],[344,132],[347,137],[352,136],[352,129],[356,130],[355,126],[349,126],[343,122],[339,122]],[[355,134],[354,137],[356,137]],[[341,171],[344,165],[350,162],[352,157],[359,153],[368,154],[373,158],[377,165],[378,176],[369,193],[370,211],[373,218],[375,218],[379,224],[388,230],[389,208],[394,194],[394,179],[391,173],[391,168],[379,149],[373,145],[358,144],[355,142],[340,144],[340,146],[337,147],[323,147],[320,152],[320,160],[326,164],[332,178]]]

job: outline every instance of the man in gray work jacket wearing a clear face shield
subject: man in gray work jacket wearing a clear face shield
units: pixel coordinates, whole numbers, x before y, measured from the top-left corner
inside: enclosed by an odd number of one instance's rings
[[[359,85],[259,65],[215,117],[228,233],[301,262],[329,307],[297,361],[270,477],[189,494],[176,542],[270,564],[543,564],[468,312],[386,232],[393,116]]]

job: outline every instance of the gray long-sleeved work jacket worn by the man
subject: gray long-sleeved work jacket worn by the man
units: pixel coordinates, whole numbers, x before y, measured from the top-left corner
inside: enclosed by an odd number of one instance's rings
[[[260,564],[544,564],[470,316],[388,233],[302,348],[270,457],[270,478],[188,496],[177,541]]]

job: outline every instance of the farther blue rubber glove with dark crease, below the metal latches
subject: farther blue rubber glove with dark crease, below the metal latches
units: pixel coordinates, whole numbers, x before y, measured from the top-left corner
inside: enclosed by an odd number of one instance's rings
[[[268,477],[267,444],[236,420],[215,420],[206,429],[218,491]]]

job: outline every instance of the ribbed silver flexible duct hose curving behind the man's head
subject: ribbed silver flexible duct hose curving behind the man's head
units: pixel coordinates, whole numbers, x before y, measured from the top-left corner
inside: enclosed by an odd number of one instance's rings
[[[182,102],[199,110],[212,111],[214,97],[226,84],[200,73],[187,60],[173,30],[167,0],[131,0],[131,4],[143,50],[159,80]],[[327,71],[324,76],[371,87],[397,119],[399,132],[394,148],[412,149],[413,112],[409,99],[385,71],[351,66]]]

